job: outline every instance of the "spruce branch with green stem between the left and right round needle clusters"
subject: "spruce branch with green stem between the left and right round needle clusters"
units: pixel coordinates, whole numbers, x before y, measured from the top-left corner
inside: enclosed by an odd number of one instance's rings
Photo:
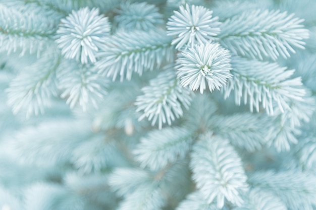
[[[141,37],[141,39],[139,39]],[[111,36],[97,53],[95,63],[101,75],[120,76],[131,80],[133,72],[140,76],[143,71],[159,68],[163,62],[173,61],[174,49],[165,31],[120,32]]]

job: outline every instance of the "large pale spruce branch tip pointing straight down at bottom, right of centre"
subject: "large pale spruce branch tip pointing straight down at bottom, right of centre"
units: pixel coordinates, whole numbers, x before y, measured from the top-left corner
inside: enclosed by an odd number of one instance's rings
[[[216,198],[217,206],[224,206],[225,198],[240,206],[240,193],[248,190],[247,176],[241,159],[229,142],[207,133],[193,146],[190,167],[192,178],[207,203]]]

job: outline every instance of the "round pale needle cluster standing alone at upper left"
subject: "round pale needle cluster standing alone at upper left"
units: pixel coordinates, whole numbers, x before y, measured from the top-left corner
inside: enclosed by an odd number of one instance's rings
[[[108,18],[99,15],[98,9],[82,8],[61,20],[56,43],[65,58],[94,63],[95,53],[106,43],[109,33]]]

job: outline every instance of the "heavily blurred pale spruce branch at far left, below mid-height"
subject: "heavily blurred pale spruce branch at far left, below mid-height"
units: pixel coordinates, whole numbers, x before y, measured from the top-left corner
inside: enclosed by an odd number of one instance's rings
[[[91,135],[93,134],[86,122],[50,120],[17,132],[11,139],[10,149],[12,155],[21,158],[23,163],[39,166],[47,166],[47,163],[50,166],[63,165],[70,160],[69,151]]]

